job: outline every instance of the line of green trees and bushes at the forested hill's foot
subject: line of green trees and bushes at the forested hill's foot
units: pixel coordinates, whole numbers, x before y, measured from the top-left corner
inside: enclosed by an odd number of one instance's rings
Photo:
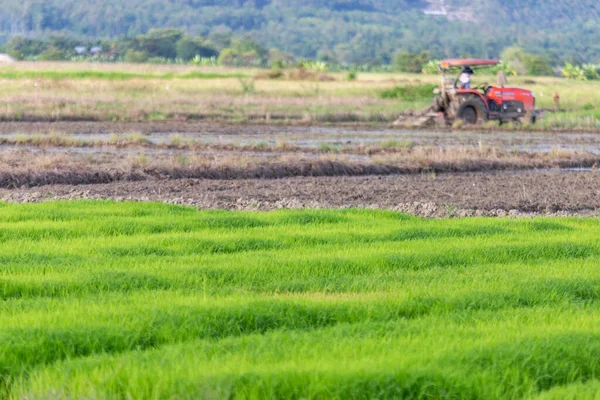
[[[340,64],[332,57],[318,60],[297,59],[278,49],[268,50],[251,37],[230,34],[191,36],[179,29],[151,29],[135,37],[114,40],[81,40],[54,34],[47,38],[14,36],[1,48],[18,60],[37,61],[101,61],[155,64],[195,64],[221,66],[271,67],[292,66],[326,70],[398,71],[437,73],[438,59],[427,51],[399,51],[380,64]],[[497,57],[496,57],[497,58]],[[552,76],[591,80],[600,78],[600,68],[577,61],[559,64],[547,55],[525,51],[518,46],[505,48],[500,56],[502,69],[510,75]],[[561,65],[564,65],[561,67]]]

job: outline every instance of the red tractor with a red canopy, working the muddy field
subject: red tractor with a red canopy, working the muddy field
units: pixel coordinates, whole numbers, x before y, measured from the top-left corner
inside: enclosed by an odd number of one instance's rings
[[[440,90],[436,89],[432,110],[443,113],[447,123],[460,119],[465,124],[479,124],[488,120],[535,123],[538,112],[535,110],[535,94],[527,89],[489,86],[487,83],[477,88],[463,88],[459,78],[447,78],[452,70],[460,73],[471,68],[496,66],[497,60],[456,59],[440,62],[443,73]],[[460,77],[460,75],[459,75]],[[504,79],[505,80],[505,79]]]

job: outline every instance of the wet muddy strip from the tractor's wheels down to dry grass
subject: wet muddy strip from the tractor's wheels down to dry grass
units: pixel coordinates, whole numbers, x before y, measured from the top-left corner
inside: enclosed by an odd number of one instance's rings
[[[285,144],[298,150],[332,146],[337,150],[360,151],[368,146],[477,147],[502,151],[548,153],[580,152],[600,154],[600,133],[582,131],[502,131],[491,129],[396,129],[382,126],[294,126],[223,124],[194,122],[4,122],[0,141],[17,137],[69,137],[81,142],[144,137],[148,145],[196,144],[206,146],[263,147]],[[349,151],[351,152],[351,151]]]

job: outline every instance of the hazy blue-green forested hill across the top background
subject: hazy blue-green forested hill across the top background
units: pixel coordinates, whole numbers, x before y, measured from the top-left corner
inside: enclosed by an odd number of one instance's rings
[[[3,0],[0,36],[87,38],[151,28],[248,34],[265,47],[340,62],[497,56],[518,44],[554,60],[600,61],[597,0]]]

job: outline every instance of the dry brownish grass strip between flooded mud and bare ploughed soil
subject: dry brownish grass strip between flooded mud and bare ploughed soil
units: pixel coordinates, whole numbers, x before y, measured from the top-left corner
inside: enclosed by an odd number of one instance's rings
[[[155,179],[277,179],[348,177],[422,173],[589,168],[597,171],[598,155],[564,150],[547,153],[498,150],[480,146],[422,147],[398,141],[367,147],[321,143],[304,149],[289,143],[258,141],[198,144],[167,138],[154,144],[143,134],[106,140],[75,140],[68,136],[16,137],[12,150],[0,154],[0,187],[86,185]],[[319,143],[319,142],[316,142]],[[41,151],[18,147],[36,146]],[[385,146],[384,146],[385,145]],[[62,147],[62,148],[60,148]],[[594,145],[592,148],[596,149]]]

